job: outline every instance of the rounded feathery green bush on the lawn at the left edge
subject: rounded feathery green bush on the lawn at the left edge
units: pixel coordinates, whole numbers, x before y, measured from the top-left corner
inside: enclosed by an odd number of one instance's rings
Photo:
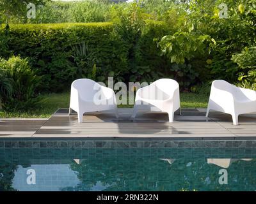
[[[2,70],[7,70],[7,78],[11,79],[8,86],[12,90],[8,94],[3,94],[3,108],[5,110],[29,110],[38,105],[40,98],[36,96],[36,88],[40,83],[40,77],[33,73],[28,59],[20,59],[20,57],[10,57],[8,61],[0,59],[0,67]]]

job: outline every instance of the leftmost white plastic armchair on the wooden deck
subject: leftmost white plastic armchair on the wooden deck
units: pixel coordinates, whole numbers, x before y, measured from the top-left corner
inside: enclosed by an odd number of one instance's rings
[[[71,85],[69,115],[75,110],[78,122],[83,122],[84,113],[115,110],[118,117],[115,92],[88,78],[78,79]]]

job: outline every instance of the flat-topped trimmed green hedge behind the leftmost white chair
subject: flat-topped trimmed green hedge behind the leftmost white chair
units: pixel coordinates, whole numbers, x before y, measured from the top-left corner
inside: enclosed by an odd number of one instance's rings
[[[85,53],[79,49],[83,42]],[[14,55],[29,57],[43,76],[44,91],[68,89],[72,80],[84,77],[79,69],[86,75],[94,64],[101,79],[127,66],[125,44],[113,34],[111,23],[11,24],[8,46]]]

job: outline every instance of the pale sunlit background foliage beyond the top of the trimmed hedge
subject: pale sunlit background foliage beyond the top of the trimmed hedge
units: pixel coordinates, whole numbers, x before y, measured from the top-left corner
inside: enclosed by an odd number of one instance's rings
[[[0,0],[6,1],[7,0]],[[61,1],[33,0],[25,3],[10,3],[8,7],[9,22],[19,23],[64,23],[64,22],[108,22],[113,19],[115,10],[125,10],[130,4],[111,0],[83,0],[76,3]],[[36,18],[28,19],[26,4],[35,3]],[[117,4],[118,3],[118,4]],[[144,10],[144,17],[151,20],[163,20],[165,13],[175,5],[171,1],[147,0],[138,5]],[[17,8],[15,10],[15,8]],[[118,17],[118,16],[116,16]]]

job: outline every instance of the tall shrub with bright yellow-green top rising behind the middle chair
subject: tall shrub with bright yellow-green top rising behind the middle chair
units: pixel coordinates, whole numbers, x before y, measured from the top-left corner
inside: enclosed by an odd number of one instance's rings
[[[141,3],[115,5],[110,15],[115,32],[127,46],[127,69],[115,77],[124,82],[152,82],[167,74],[170,63],[159,55],[154,38],[167,34],[168,26],[164,22],[150,20],[151,16],[147,15]]]

